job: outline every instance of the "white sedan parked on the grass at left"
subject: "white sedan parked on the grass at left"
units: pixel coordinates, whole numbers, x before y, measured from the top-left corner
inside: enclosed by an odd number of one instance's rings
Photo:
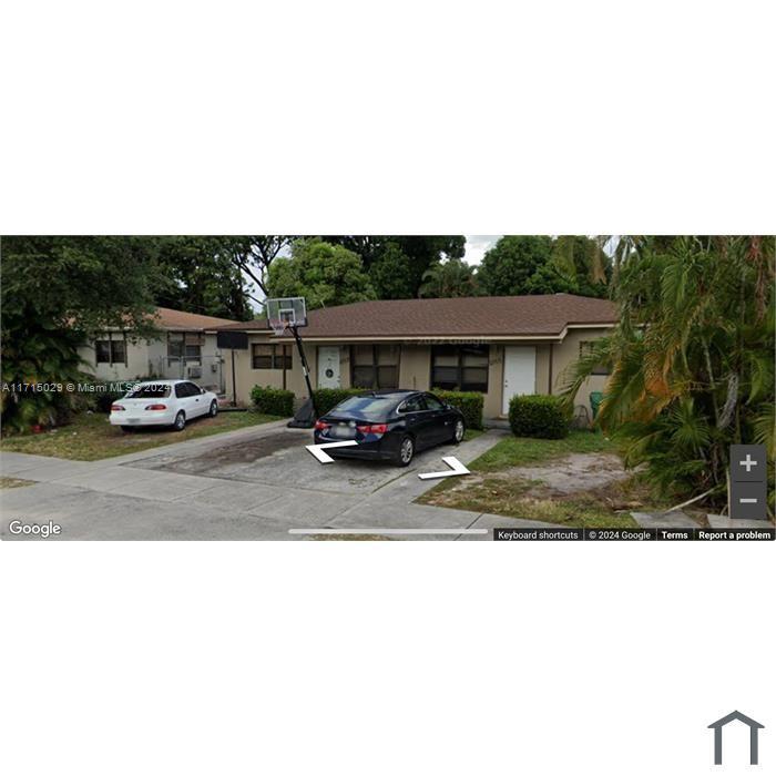
[[[111,406],[111,426],[131,431],[139,426],[172,426],[183,431],[186,421],[218,413],[218,397],[188,380],[139,382]]]

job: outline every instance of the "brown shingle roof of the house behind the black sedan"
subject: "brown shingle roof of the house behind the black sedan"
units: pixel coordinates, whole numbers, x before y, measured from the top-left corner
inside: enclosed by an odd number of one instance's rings
[[[553,336],[573,324],[614,324],[607,299],[572,294],[358,302],[308,313],[304,337]],[[219,328],[267,330],[264,319]]]

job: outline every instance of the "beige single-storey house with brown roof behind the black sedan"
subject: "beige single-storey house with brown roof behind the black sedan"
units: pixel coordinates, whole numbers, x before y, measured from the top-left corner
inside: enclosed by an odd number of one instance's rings
[[[563,370],[614,325],[616,308],[570,294],[397,299],[317,309],[299,333],[314,387],[481,391],[492,419],[518,394],[559,392]],[[219,328],[248,333],[248,349],[235,350],[238,402],[255,385],[306,395],[290,335],[275,336],[264,320]],[[225,377],[231,396],[231,369]],[[605,379],[603,370],[591,377],[576,404],[590,412],[590,392]]]

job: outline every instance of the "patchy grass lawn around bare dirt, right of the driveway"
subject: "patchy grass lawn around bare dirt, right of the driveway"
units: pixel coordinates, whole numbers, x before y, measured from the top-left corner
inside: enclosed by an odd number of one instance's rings
[[[650,498],[636,478],[558,496],[543,481],[510,471],[522,466],[551,469],[553,459],[571,453],[616,455],[616,448],[603,435],[590,431],[572,431],[565,439],[506,437],[469,464],[474,477],[440,482],[418,501],[576,528],[636,528],[630,514],[615,511],[627,504],[641,509]]]

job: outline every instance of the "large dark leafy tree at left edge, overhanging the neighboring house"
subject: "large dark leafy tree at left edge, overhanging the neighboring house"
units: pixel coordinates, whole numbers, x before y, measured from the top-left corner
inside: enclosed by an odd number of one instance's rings
[[[4,430],[65,417],[71,391],[30,389],[78,382],[78,346],[109,326],[155,333],[149,314],[160,285],[155,243],[135,237],[3,237],[2,392]]]

